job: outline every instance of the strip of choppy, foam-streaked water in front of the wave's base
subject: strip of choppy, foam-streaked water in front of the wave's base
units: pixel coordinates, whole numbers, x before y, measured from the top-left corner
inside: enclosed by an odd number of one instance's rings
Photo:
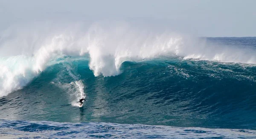
[[[256,132],[241,129],[177,128],[160,125],[114,124],[104,122],[59,123],[0,121],[5,138],[137,138],[137,139],[253,139]]]

